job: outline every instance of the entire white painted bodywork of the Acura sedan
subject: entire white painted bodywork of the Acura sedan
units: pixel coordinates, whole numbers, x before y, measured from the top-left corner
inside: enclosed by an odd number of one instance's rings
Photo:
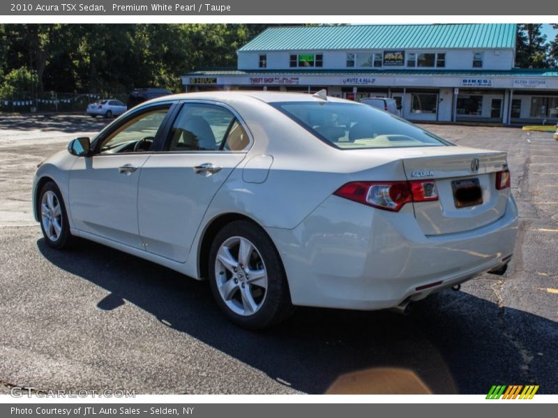
[[[308,306],[393,307],[497,268],[513,253],[515,202],[509,188],[490,189],[495,171],[506,167],[504,153],[462,146],[338,150],[265,103],[323,101],[296,93],[188,93],[133,111],[169,100],[232,107],[253,144],[234,153],[75,157],[63,151],[38,169],[33,199],[41,179],[52,178],[66,201],[72,233],[196,279],[203,278],[200,248],[211,222],[243,215],[276,245],[294,304]],[[448,187],[453,178],[472,176],[472,157],[481,160],[475,176],[487,204],[452,210]],[[194,173],[193,167],[207,162],[223,169],[211,176]],[[128,163],[137,171],[119,173]],[[412,171],[427,168],[437,179],[439,201],[386,212],[332,195],[350,181],[410,180]],[[438,280],[443,283],[416,291]]]

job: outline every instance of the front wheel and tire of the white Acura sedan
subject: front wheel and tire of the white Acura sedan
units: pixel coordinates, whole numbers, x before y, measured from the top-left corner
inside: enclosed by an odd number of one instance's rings
[[[60,189],[52,181],[46,183],[37,201],[40,229],[49,247],[65,249],[73,243],[68,214]]]

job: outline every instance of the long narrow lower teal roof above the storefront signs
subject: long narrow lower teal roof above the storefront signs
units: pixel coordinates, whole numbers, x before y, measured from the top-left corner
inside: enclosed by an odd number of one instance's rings
[[[230,75],[420,75],[424,77],[432,76],[453,76],[453,77],[558,77],[558,68],[513,68],[513,70],[202,70],[190,72],[186,76],[230,76]]]

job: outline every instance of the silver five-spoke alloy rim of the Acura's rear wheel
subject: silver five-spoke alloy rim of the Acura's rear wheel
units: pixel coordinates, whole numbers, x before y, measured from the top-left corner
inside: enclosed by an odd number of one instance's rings
[[[265,302],[267,271],[264,259],[250,240],[234,236],[218,249],[216,284],[223,302],[235,314],[251,316]]]

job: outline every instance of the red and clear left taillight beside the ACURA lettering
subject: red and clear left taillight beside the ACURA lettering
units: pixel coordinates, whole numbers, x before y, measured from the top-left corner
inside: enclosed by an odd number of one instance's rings
[[[398,212],[405,203],[438,200],[433,180],[352,181],[333,194],[363,205]]]

